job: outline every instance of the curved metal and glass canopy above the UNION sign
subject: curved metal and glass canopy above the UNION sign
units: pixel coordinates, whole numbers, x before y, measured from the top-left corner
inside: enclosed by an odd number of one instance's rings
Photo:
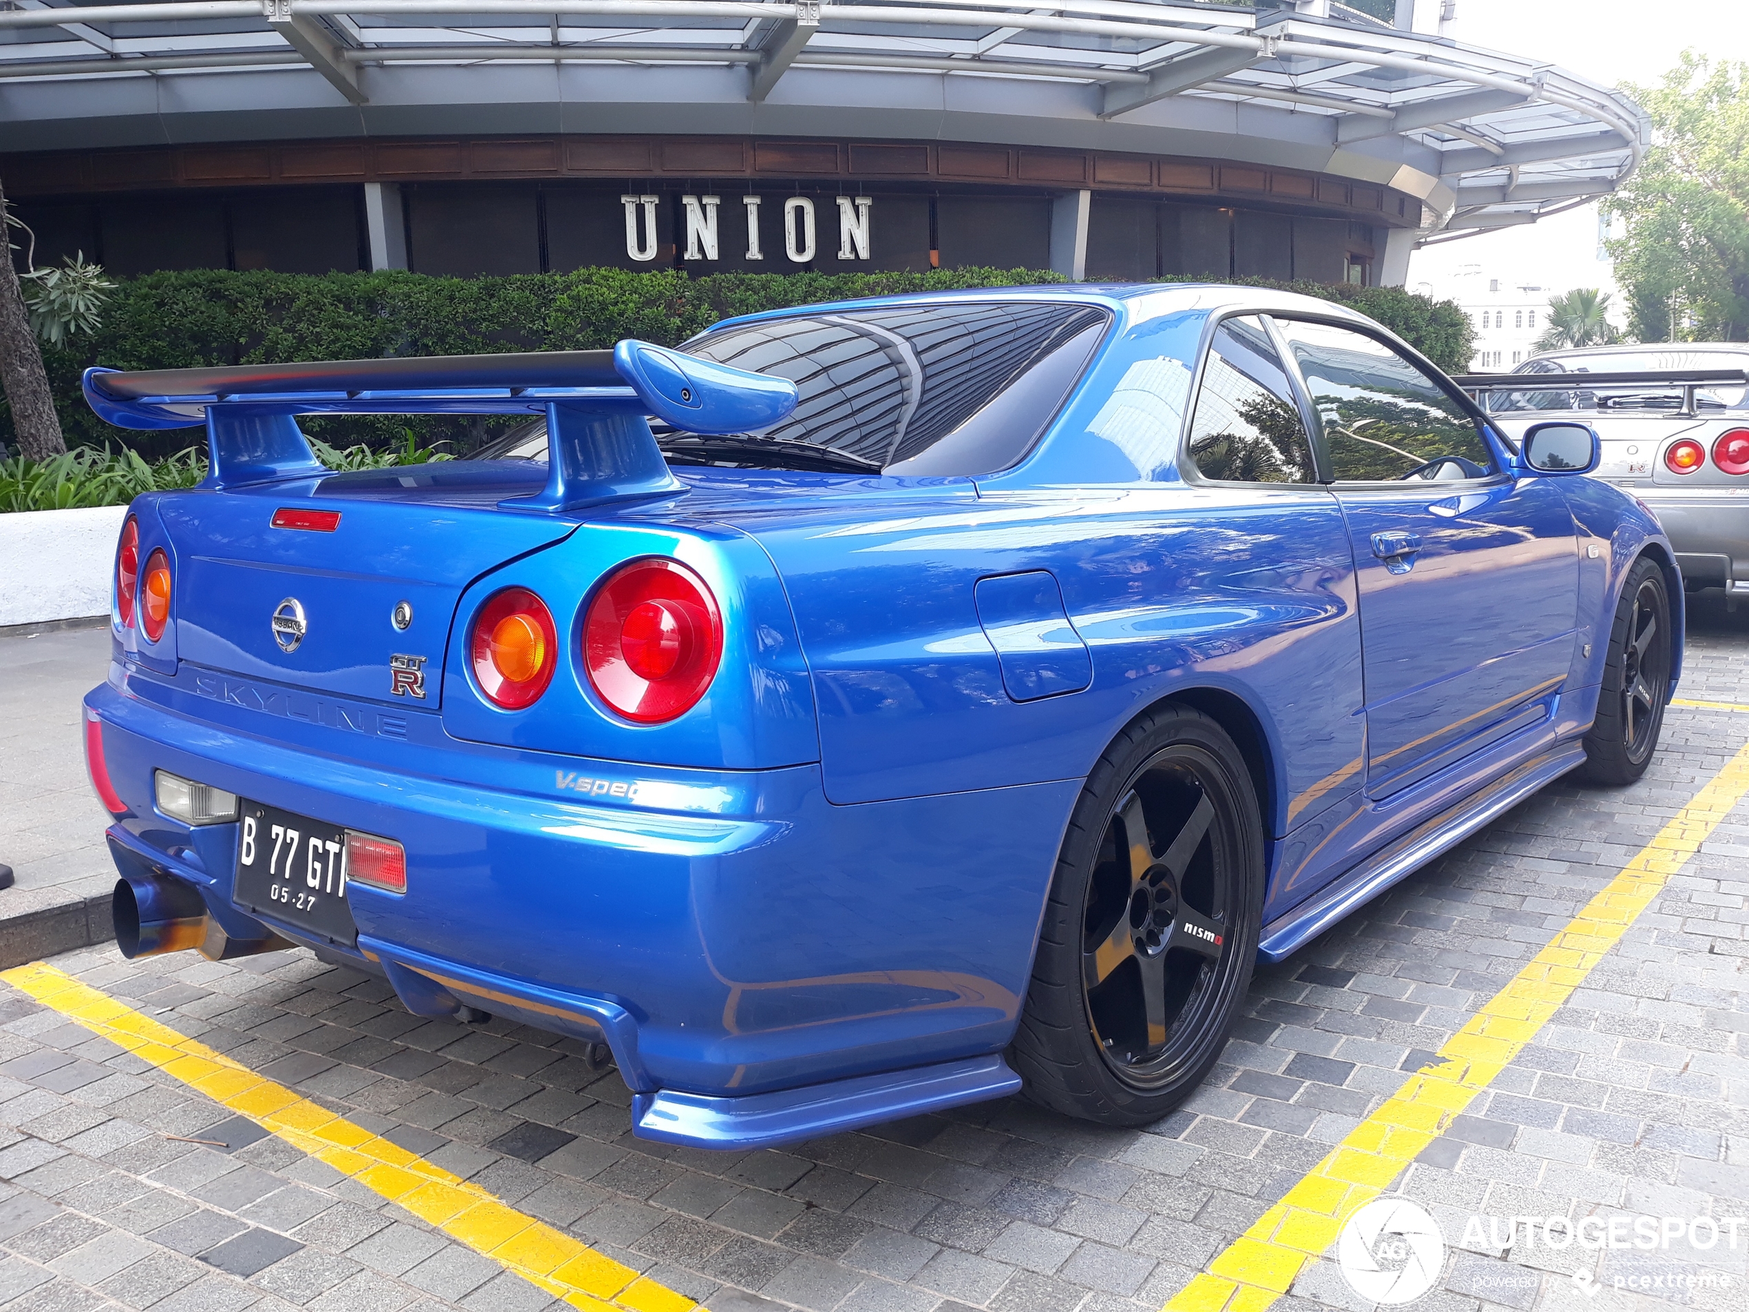
[[[0,122],[21,149],[133,143],[114,124],[142,114],[170,140],[255,140],[266,108],[299,135],[406,135],[488,103],[502,131],[567,112],[591,124],[567,131],[854,124],[1336,173],[1418,196],[1424,236],[1457,236],[1613,191],[1648,138],[1620,93],[1333,0],[14,3]]]

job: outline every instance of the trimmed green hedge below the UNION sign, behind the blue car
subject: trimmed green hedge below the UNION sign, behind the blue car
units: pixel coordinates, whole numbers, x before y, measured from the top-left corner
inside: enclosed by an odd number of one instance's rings
[[[68,444],[105,446],[122,434],[79,394],[89,364],[115,369],[178,369],[275,360],[348,360],[385,355],[465,355],[505,350],[588,350],[621,338],[673,345],[719,318],[815,301],[960,287],[1062,282],[1039,269],[937,269],[930,273],[714,273],[577,269],[504,278],[436,278],[420,273],[149,273],[124,282],[103,325],[44,362]],[[1163,280],[1172,282],[1172,280]],[[1380,320],[1446,369],[1469,360],[1469,318],[1452,303],[1390,287],[1266,283],[1340,301]],[[502,420],[430,416],[415,422],[420,441],[477,446]],[[311,436],[336,446],[402,443],[408,420],[308,420]],[[129,446],[168,455],[192,430],[128,434]],[[0,408],[0,441],[12,441]]]

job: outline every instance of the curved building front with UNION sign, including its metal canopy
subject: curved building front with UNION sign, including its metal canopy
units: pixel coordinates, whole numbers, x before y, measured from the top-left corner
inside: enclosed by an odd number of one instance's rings
[[[1600,194],[1644,138],[1616,93],[1415,31],[1418,3],[26,3],[0,180],[38,264],[119,275],[1401,283],[1422,236]]]

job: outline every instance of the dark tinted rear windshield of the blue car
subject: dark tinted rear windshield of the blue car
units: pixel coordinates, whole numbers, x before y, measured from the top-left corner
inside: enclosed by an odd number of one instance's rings
[[[729,437],[651,427],[670,464],[990,474],[1044,432],[1107,322],[1093,306],[969,301],[712,329],[680,350],[789,378],[796,411]],[[544,422],[477,457],[544,460]]]

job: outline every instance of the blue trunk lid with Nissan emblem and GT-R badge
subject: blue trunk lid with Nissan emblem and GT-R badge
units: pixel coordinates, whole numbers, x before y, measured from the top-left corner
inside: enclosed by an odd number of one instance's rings
[[[177,656],[318,693],[436,710],[465,588],[563,541],[579,523],[497,507],[544,478],[544,467],[483,462],[166,493],[156,509],[175,558]],[[275,528],[282,507],[332,511],[339,521],[332,532]],[[276,614],[301,623],[303,635],[294,640],[297,625],[276,626]],[[397,693],[395,666],[422,677],[402,675]]]

